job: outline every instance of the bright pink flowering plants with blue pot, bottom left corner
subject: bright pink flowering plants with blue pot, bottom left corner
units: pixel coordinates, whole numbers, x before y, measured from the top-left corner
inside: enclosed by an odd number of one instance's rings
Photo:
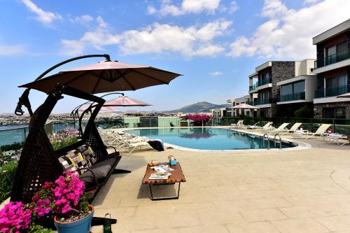
[[[89,195],[84,190],[85,184],[78,175],[67,171],[55,183],[45,182],[31,203],[6,204],[0,210],[0,232],[52,232],[36,223],[42,218],[55,216],[53,219],[58,232],[89,233],[94,208],[89,204]]]

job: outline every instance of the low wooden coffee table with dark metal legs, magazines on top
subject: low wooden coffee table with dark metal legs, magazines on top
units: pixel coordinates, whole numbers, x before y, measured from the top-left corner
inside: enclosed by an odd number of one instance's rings
[[[151,169],[151,167],[153,167],[153,166],[150,166],[148,164],[147,168],[146,168],[146,174],[144,176],[144,181],[142,183],[144,183],[145,185],[149,185],[152,201],[179,199],[179,196],[180,196],[180,184],[181,184],[181,182],[186,182],[185,176],[183,175],[183,172],[182,172],[182,169],[181,169],[181,166],[180,166],[179,162],[176,163],[176,165],[174,165],[174,166],[171,166],[169,164],[169,162],[162,162],[160,164],[169,165],[169,167],[174,169],[174,171],[170,171],[172,176],[169,176],[167,178],[167,180],[150,180],[149,177],[151,176],[151,174],[155,173],[155,171],[153,169]],[[153,193],[152,193],[152,186],[153,185],[175,185],[175,183],[179,183],[179,189],[178,189],[176,197],[153,198]]]

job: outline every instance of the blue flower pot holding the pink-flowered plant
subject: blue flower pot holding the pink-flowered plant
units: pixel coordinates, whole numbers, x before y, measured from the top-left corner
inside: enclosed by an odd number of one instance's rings
[[[94,206],[90,205],[91,213],[84,218],[80,218],[75,222],[62,223],[54,218],[54,224],[59,233],[89,233],[91,228],[92,217],[94,216]]]

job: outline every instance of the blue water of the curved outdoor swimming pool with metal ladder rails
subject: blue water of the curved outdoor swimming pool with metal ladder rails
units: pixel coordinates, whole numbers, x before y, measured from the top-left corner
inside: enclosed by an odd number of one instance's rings
[[[244,134],[221,128],[165,128],[165,129],[131,129],[125,132],[146,136],[149,139],[161,139],[165,143],[184,148],[199,150],[246,150],[279,148],[279,143],[263,141],[261,136]],[[296,143],[282,142],[282,148],[297,146]]]

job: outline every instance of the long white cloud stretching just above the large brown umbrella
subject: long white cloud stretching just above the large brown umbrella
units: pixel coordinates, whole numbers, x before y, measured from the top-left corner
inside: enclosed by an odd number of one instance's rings
[[[99,26],[94,31],[87,31],[80,39],[62,40],[63,52],[78,55],[89,47],[103,50],[106,45],[116,45],[125,55],[178,52],[186,57],[213,56],[224,51],[214,39],[223,36],[232,24],[225,20],[209,22],[202,27],[154,23],[143,29],[111,34],[102,17],[97,21]]]

